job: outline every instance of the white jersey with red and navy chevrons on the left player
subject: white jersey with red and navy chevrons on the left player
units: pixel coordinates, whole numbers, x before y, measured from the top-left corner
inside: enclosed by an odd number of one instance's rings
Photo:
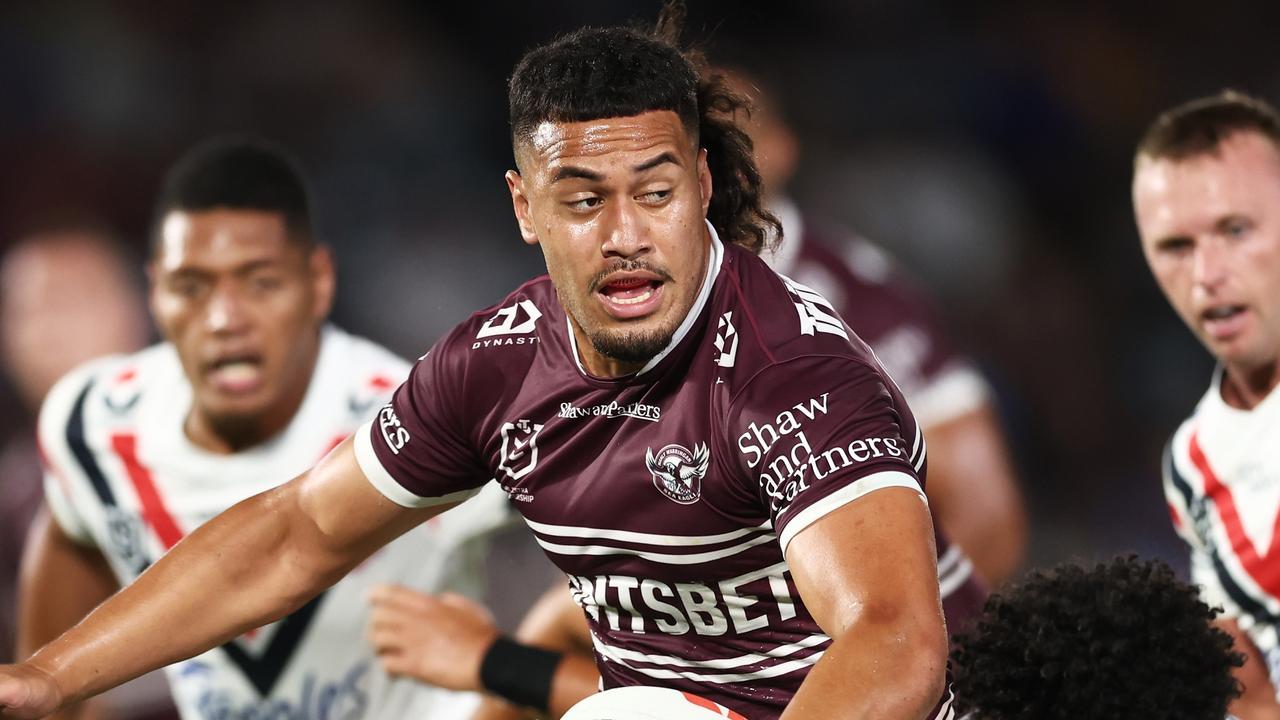
[[[229,506],[288,480],[371,418],[408,365],[328,327],[301,407],[275,438],[233,455],[191,443],[192,389],[172,345],[92,361],[40,416],[45,493],[72,538],[99,548],[122,584]],[[481,536],[506,521],[486,495],[397,539],[291,616],[166,667],[186,720],[461,717],[474,698],[392,680],[365,641],[366,591],[401,583],[476,596]],[[210,597],[210,603],[234,597]]]

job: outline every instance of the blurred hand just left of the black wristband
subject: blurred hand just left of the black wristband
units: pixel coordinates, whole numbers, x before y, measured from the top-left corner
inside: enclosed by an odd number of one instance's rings
[[[498,638],[488,610],[458,594],[401,585],[378,585],[369,600],[369,641],[388,674],[453,691],[484,689],[480,662]]]

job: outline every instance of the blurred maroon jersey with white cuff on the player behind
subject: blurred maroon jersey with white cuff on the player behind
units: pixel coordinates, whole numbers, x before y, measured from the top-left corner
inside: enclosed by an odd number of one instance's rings
[[[987,401],[986,379],[955,350],[929,300],[888,255],[860,237],[842,237],[804,222],[790,201],[772,209],[782,220],[786,241],[765,261],[831,301],[876,351],[925,430]],[[947,629],[964,632],[982,614],[987,587],[959,546],[941,532],[936,537]]]

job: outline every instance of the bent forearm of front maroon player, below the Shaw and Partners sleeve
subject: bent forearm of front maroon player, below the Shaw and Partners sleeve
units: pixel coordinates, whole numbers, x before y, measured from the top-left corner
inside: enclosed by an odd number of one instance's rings
[[[782,720],[929,716],[945,689],[946,633],[925,625],[860,625],[832,642]]]

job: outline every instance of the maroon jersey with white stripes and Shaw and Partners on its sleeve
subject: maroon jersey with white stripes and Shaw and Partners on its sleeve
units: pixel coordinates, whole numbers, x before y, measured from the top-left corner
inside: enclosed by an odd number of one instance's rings
[[[672,687],[760,720],[831,642],[787,543],[869,492],[922,492],[925,451],[822,296],[712,245],[692,310],[639,373],[584,372],[539,278],[436,343],[356,452],[406,506],[497,478],[568,575],[605,688]]]

